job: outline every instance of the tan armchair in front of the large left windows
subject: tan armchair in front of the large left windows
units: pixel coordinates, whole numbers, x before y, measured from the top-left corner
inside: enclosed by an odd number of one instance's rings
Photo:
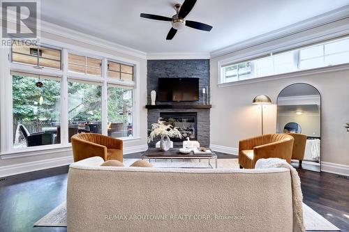
[[[103,160],[123,160],[123,142],[102,134],[82,133],[71,137],[74,162],[99,156]]]

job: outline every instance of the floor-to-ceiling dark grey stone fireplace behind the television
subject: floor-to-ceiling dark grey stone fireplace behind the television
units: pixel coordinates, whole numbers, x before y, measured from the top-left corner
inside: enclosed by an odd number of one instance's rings
[[[158,93],[159,78],[199,78],[199,100],[195,102],[160,102],[156,96],[156,105],[151,105],[150,93]],[[209,112],[211,105],[205,105],[202,88],[209,89],[209,59],[189,60],[148,60],[147,61],[147,110],[148,110],[148,135],[151,124],[158,118],[180,127],[181,133],[191,140],[199,141],[200,146],[209,147]],[[210,102],[209,95],[205,96]],[[184,139],[174,139],[174,147],[181,147]],[[155,147],[160,138],[148,144],[149,148]]]

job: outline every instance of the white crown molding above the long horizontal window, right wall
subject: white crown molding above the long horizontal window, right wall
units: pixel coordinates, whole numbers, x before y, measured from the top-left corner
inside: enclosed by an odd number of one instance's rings
[[[246,49],[248,47],[255,47],[258,45],[265,44],[267,42],[278,40],[279,38],[284,38],[287,36],[295,35],[297,33],[301,33],[303,31],[308,31],[318,26],[322,26],[325,24],[339,21],[339,20],[344,20],[349,17],[348,15],[349,15],[349,5],[343,6],[336,10],[329,11],[322,15],[311,17],[308,20],[297,22],[290,26],[285,26],[281,29],[271,31],[269,33],[262,34],[260,36],[255,36],[251,39],[238,42],[234,45],[217,49],[211,52],[210,55],[211,55],[211,58],[215,58],[215,57],[223,56],[225,54],[229,54],[232,52],[238,52],[239,50]]]

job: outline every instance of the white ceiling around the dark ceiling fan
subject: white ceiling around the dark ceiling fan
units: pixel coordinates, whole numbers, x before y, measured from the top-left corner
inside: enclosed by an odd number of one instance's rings
[[[211,32],[186,27],[165,40],[171,17],[184,0],[44,0],[41,19],[147,53],[213,52],[349,4],[349,0],[198,0],[187,20],[214,26]]]

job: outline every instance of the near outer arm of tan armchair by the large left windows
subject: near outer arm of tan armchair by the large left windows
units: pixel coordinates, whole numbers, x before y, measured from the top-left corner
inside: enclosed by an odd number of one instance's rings
[[[103,160],[107,160],[107,148],[103,145],[72,137],[71,146],[73,148],[74,162],[93,156],[99,156]]]

